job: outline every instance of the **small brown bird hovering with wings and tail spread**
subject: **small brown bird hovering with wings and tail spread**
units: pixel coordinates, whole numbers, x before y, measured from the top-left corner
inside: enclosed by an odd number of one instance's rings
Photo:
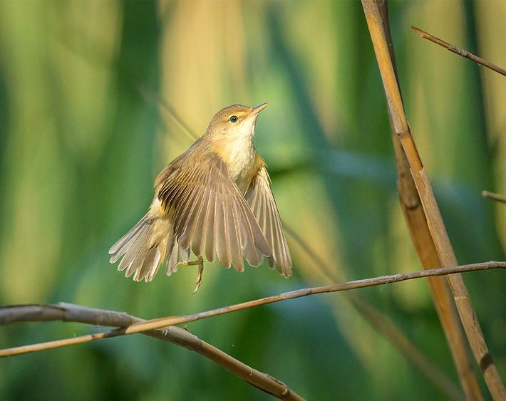
[[[271,180],[253,145],[258,113],[267,107],[231,105],[212,118],[202,137],[165,167],[155,180],[149,212],[110,249],[110,263],[123,256],[118,271],[135,281],[151,281],[167,261],[167,275],[177,266],[199,266],[218,256],[227,269],[244,270],[244,259],[291,276]],[[197,261],[189,261],[190,249]]]

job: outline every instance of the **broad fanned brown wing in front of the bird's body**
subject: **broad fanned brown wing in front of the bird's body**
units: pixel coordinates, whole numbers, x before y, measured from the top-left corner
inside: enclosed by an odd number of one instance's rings
[[[160,173],[161,207],[169,215],[182,249],[209,261],[217,254],[227,268],[244,270],[243,257],[258,266],[271,254],[251,209],[218,155],[190,150]]]

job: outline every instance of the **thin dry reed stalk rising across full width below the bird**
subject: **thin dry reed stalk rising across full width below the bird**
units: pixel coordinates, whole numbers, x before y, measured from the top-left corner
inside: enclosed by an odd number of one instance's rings
[[[255,299],[242,303],[236,303],[222,308],[212,309],[211,311],[192,313],[185,316],[167,316],[164,318],[153,319],[134,323],[131,326],[117,328],[115,330],[104,331],[102,333],[93,333],[81,335],[63,340],[48,341],[47,343],[36,343],[32,345],[23,345],[21,347],[5,348],[0,350],[0,358],[12,355],[20,355],[24,353],[33,353],[53,348],[66,347],[68,345],[76,345],[81,343],[89,343],[94,340],[103,340],[105,338],[119,337],[120,335],[130,335],[135,333],[143,333],[148,330],[165,328],[167,326],[175,326],[193,321],[200,321],[213,316],[220,316],[226,313],[242,311],[243,309],[253,308],[255,306],[267,305],[279,301],[287,301],[289,299],[301,298],[303,296],[316,295],[321,293],[334,293],[339,291],[348,291],[356,288],[366,288],[372,286],[381,286],[383,284],[399,283],[401,281],[413,280],[415,278],[426,278],[430,276],[453,276],[465,271],[479,271],[489,269],[506,269],[506,262],[488,261],[477,264],[467,264],[462,266],[448,266],[438,269],[430,269],[423,271],[413,271],[411,273],[391,274],[389,276],[379,276],[373,278],[364,278],[362,280],[346,281],[346,283],[331,284],[329,286],[319,286],[311,288],[302,288],[295,291],[281,293],[275,296],[267,296],[265,298]],[[2,323],[1,312],[7,314],[9,307],[0,308],[0,324]]]

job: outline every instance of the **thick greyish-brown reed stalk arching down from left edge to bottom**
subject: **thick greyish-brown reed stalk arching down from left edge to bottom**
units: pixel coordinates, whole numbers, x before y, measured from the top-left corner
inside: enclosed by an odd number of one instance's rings
[[[20,305],[0,308],[0,324],[2,325],[34,321],[64,321],[87,323],[93,326],[127,327],[135,323],[142,323],[145,320],[131,316],[128,313],[88,308],[71,303],[58,303],[58,305]],[[285,385],[284,382],[267,375],[267,373],[250,368],[222,350],[200,340],[196,335],[185,329],[171,326],[165,328],[165,330],[148,330],[143,334],[199,353],[234,373],[234,375],[241,377],[254,387],[280,400],[304,400],[304,398]]]

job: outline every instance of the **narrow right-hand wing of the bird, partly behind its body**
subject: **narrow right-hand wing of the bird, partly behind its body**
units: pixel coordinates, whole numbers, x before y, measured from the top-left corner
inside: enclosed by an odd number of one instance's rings
[[[244,197],[272,249],[272,256],[269,256],[269,266],[277,266],[279,273],[285,277],[290,277],[291,256],[284,238],[276,201],[272,194],[271,179],[263,160],[260,159],[259,162],[261,167]]]

